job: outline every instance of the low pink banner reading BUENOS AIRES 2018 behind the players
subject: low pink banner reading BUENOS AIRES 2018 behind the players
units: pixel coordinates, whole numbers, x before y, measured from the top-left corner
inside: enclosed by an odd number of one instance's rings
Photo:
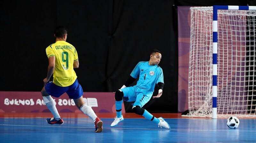
[[[84,92],[84,102],[95,113],[116,113],[115,94],[112,92]],[[65,93],[53,97],[59,112],[81,112],[73,99]],[[45,106],[41,92],[0,91],[0,112],[50,112]],[[125,112],[124,103],[122,112]]]

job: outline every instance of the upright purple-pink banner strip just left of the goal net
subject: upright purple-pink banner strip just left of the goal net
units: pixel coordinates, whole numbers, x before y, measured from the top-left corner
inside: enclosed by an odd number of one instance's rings
[[[178,112],[188,109],[188,67],[190,44],[190,6],[178,6]]]

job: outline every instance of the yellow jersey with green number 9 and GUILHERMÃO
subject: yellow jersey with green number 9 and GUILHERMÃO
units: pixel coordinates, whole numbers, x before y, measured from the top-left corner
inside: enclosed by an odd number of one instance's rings
[[[48,58],[55,56],[53,83],[60,87],[72,85],[77,76],[74,71],[74,61],[78,60],[76,49],[66,41],[57,41],[46,48]]]

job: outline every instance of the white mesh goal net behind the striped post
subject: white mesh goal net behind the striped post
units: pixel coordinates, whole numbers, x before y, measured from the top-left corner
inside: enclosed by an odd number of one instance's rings
[[[189,112],[183,116],[212,117],[213,7],[190,11]],[[217,13],[217,117],[256,117],[256,9]]]

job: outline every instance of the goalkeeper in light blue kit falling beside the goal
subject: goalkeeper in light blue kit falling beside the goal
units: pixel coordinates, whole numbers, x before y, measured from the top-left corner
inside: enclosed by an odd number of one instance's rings
[[[162,54],[160,51],[156,49],[152,50],[149,61],[139,62],[126,80],[124,86],[114,92],[116,100],[116,117],[114,122],[110,125],[111,127],[116,126],[119,122],[124,120],[121,111],[124,98],[124,101],[135,101],[132,106],[132,111],[134,113],[155,122],[158,124],[158,127],[170,129],[170,125],[162,117],[156,118],[142,108],[152,97],[156,85],[159,90],[158,94],[153,96],[153,98],[159,98],[162,95],[164,74],[162,68],[158,66],[161,58]],[[138,77],[139,80],[137,81],[137,85],[128,87]]]

